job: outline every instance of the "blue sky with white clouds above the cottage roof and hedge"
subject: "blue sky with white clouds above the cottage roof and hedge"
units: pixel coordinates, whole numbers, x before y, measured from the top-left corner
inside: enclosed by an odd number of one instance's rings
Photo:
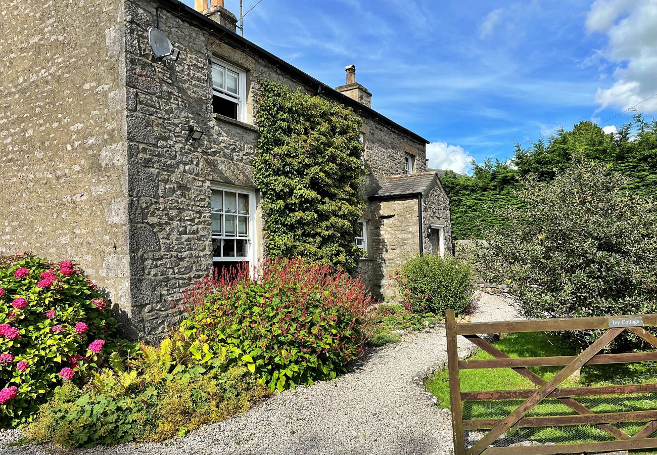
[[[431,141],[430,165],[463,172],[657,93],[656,23],[657,0],[262,0],[244,37],[332,86],[355,64],[372,107]]]

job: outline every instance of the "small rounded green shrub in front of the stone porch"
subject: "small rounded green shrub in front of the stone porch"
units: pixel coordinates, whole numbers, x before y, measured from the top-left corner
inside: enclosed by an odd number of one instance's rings
[[[457,314],[474,311],[472,270],[453,256],[413,258],[397,270],[395,281],[401,304],[415,313],[442,316],[448,308]]]

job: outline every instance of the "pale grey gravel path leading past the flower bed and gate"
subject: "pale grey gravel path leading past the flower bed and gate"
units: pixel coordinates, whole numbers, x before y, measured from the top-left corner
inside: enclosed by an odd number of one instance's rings
[[[482,296],[474,321],[514,317],[510,302]],[[467,356],[472,343],[459,341]],[[280,393],[244,416],[208,425],[162,444],[124,444],[79,455],[450,454],[449,411],[434,405],[422,379],[445,364],[442,328],[403,337],[371,352],[340,379]],[[8,446],[18,431],[0,433],[0,454],[56,453],[47,446]]]

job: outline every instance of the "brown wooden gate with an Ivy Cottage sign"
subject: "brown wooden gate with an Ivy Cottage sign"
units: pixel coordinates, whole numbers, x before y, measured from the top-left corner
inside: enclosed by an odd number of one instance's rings
[[[452,425],[455,455],[555,455],[581,454],[582,452],[610,452],[641,448],[657,448],[657,438],[650,435],[657,429],[657,410],[632,412],[606,412],[595,414],[575,400],[577,397],[602,395],[629,395],[657,393],[657,383],[631,385],[608,385],[600,387],[575,387],[558,389],[583,365],[620,364],[628,362],[656,361],[657,352],[632,352],[629,354],[599,354],[622,331],[629,330],[657,348],[657,337],[643,327],[657,325],[657,314],[641,316],[618,316],[611,318],[569,318],[549,320],[518,320],[504,322],[457,323],[453,310],[445,315],[447,331],[447,359],[449,369],[449,396],[451,400]],[[501,350],[482,339],[478,333],[519,333],[543,331],[570,331],[583,329],[606,329],[602,336],[576,356],[510,358]],[[493,356],[489,360],[459,360],[457,337],[462,336]],[[563,366],[549,381],[545,381],[528,367]],[[537,385],[537,389],[462,392],[459,371],[472,368],[512,368]],[[463,402],[482,400],[525,399],[504,419],[463,419]],[[555,398],[568,406],[577,415],[526,417],[532,408],[545,398]],[[635,435],[630,436],[612,425],[620,422],[648,421]],[[549,444],[532,446],[490,447],[498,437],[509,429],[526,427],[553,427],[562,425],[597,425],[614,437],[615,441],[575,444]],[[476,444],[466,448],[464,431],[489,429]]]

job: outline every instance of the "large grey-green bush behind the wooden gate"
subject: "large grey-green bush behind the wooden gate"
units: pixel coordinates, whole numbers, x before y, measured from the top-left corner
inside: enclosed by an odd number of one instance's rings
[[[574,162],[530,176],[509,227],[476,251],[482,277],[510,286],[527,318],[657,312],[657,203],[629,193],[610,166]],[[598,333],[576,333],[584,344]],[[570,333],[572,336],[572,333]],[[623,339],[617,339],[622,341]]]

